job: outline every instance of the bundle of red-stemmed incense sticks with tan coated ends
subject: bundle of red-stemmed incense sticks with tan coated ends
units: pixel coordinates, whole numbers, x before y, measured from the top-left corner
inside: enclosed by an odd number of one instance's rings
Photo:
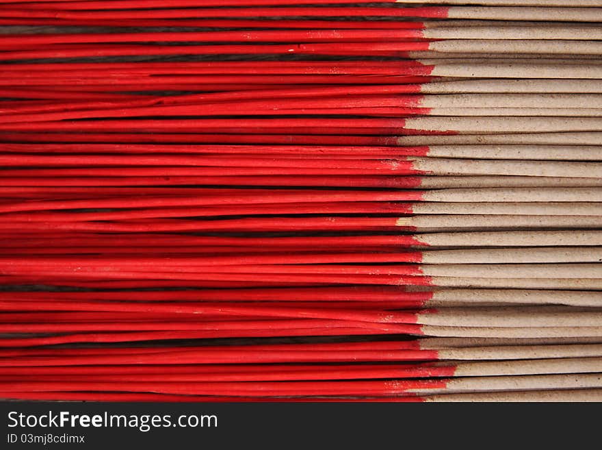
[[[602,1],[0,0],[0,398],[602,401]]]

